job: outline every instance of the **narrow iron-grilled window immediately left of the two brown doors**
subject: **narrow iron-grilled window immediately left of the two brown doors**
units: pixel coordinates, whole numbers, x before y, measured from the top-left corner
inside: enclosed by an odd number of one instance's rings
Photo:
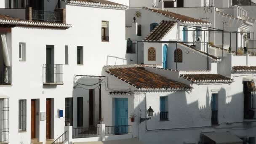
[[[19,100],[19,131],[27,131],[27,100]]]

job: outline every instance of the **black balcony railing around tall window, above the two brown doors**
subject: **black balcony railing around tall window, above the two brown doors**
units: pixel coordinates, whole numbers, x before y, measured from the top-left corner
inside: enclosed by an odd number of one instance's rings
[[[43,64],[43,84],[63,84],[63,64]]]

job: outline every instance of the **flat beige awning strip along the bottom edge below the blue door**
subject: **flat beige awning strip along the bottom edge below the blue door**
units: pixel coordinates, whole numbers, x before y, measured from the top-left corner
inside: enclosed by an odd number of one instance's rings
[[[91,141],[91,142],[74,142],[73,144],[143,144],[138,139],[122,139],[115,141]]]

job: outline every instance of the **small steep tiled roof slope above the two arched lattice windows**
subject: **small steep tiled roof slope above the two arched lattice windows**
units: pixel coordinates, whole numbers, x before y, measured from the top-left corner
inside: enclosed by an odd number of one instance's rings
[[[176,21],[161,21],[152,32],[144,39],[144,41],[160,41],[165,35],[177,24]]]

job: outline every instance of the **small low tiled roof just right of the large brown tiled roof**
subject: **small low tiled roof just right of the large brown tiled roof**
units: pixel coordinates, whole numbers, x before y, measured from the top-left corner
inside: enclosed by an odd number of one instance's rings
[[[234,81],[229,77],[219,74],[185,74],[180,75],[180,77],[192,81],[193,83],[232,83]]]

